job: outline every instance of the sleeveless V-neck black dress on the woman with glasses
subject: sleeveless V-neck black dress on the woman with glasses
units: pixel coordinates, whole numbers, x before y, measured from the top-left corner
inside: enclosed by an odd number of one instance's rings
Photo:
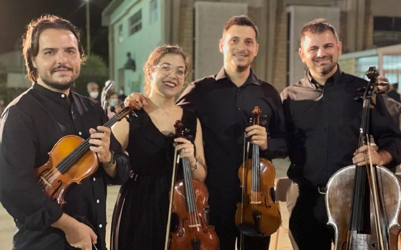
[[[144,110],[137,115],[129,125],[127,151],[132,171],[120,188],[114,208],[112,250],[164,249],[172,137],[162,134]],[[194,138],[195,114],[183,109],[181,121]]]

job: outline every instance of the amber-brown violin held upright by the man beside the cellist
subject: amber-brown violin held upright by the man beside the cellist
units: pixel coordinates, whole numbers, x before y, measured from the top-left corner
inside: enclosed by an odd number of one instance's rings
[[[259,107],[254,108],[252,125],[260,124],[261,112]],[[242,202],[237,204],[235,222],[241,237],[242,234],[264,237],[274,233],[281,224],[279,204],[274,200],[276,170],[271,161],[260,158],[259,145],[252,144],[252,157],[244,160],[238,175]]]

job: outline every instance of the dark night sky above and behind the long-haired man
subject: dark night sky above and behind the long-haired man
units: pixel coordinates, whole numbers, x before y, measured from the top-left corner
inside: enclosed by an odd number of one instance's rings
[[[90,0],[92,53],[107,58],[107,27],[101,27],[101,13],[110,0]],[[84,0],[0,0],[0,53],[21,46],[26,25],[43,13],[60,15],[81,30],[86,46],[86,9]],[[107,60],[106,60],[107,61]]]

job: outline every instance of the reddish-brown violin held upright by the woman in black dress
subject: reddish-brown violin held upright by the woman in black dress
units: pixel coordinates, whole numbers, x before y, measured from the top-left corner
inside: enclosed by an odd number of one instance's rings
[[[174,127],[178,137],[185,137],[188,133],[180,120],[175,122]],[[174,157],[177,158],[176,150]],[[181,162],[183,179],[175,183],[172,181],[174,185],[170,190],[165,249],[217,250],[220,248],[219,238],[214,226],[209,225],[205,218],[209,212],[208,188],[204,182],[191,177],[187,157],[181,158]],[[175,173],[174,164],[173,175]],[[170,228],[171,216],[174,217],[174,228]]]

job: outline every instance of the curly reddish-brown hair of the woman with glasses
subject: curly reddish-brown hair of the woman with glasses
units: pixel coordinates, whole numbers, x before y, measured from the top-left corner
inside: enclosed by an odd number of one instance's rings
[[[160,59],[166,54],[179,54],[182,56],[185,62],[185,71],[186,75],[191,71],[191,61],[190,57],[187,53],[182,50],[182,47],[178,45],[162,45],[160,47],[156,47],[149,55],[145,64],[143,65],[143,72],[145,73],[145,87],[144,93],[145,95],[149,95],[150,93],[150,72],[153,66],[159,63]]]

